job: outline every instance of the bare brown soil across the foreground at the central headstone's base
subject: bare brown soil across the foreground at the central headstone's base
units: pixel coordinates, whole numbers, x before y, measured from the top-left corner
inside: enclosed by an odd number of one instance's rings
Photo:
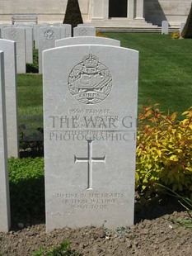
[[[0,255],[28,256],[40,247],[53,247],[63,240],[71,249],[89,256],[192,255],[192,224],[184,208],[172,198],[135,206],[135,224],[107,230],[105,227],[64,228],[45,233],[44,223],[17,223],[8,233],[0,233]],[[20,229],[19,229],[20,228]]]

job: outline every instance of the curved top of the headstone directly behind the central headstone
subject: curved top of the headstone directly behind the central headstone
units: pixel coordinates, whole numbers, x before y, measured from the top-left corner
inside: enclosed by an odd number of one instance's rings
[[[55,47],[67,45],[114,45],[120,46],[120,41],[98,36],[76,36],[55,41]]]

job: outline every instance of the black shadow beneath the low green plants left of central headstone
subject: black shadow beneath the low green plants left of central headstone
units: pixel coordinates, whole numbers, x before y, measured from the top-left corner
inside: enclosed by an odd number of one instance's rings
[[[44,177],[10,183],[12,229],[44,223]]]

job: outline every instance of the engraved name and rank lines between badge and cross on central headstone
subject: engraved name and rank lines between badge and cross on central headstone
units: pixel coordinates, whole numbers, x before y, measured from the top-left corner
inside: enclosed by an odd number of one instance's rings
[[[68,116],[49,116],[49,140],[129,140],[136,125],[132,116],[115,116],[110,109],[70,109]]]

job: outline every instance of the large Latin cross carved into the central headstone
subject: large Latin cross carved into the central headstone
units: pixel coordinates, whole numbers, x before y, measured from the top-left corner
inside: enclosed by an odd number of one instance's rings
[[[93,162],[101,162],[105,163],[105,156],[100,157],[100,158],[94,158],[92,156],[92,144],[93,140],[87,140],[88,143],[88,156],[87,158],[79,158],[74,155],[74,161],[75,163],[80,162],[80,163],[87,163],[87,176],[88,176],[88,184],[87,184],[87,189],[91,190],[92,189],[92,163]]]

